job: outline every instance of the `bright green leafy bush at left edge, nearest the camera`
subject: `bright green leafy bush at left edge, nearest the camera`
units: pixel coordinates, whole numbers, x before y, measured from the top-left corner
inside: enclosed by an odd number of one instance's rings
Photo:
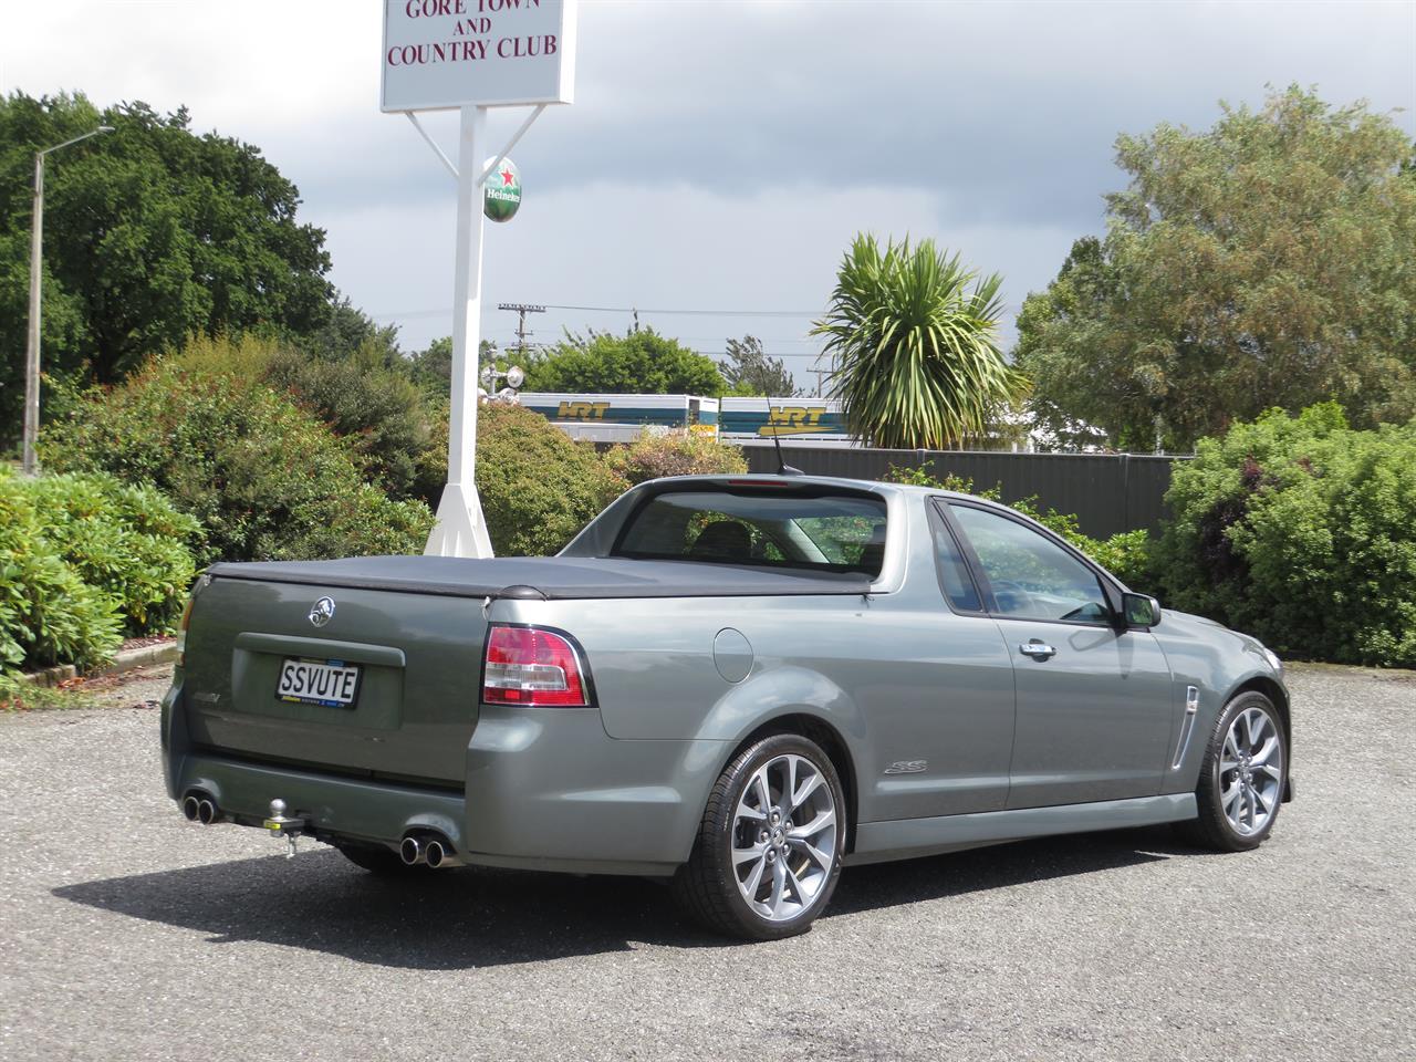
[[[64,558],[51,517],[30,480],[0,470],[0,670],[88,667],[122,644],[118,599]]]

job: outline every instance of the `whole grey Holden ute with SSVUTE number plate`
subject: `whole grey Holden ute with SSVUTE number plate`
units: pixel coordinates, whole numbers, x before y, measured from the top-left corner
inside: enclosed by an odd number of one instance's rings
[[[1151,823],[1239,851],[1291,796],[1273,653],[925,487],[666,479],[552,558],[218,564],[181,641],[188,818],[391,875],[656,875],[749,939],[843,865]]]

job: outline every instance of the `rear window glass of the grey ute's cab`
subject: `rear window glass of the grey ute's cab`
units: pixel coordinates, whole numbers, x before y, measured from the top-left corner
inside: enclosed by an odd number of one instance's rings
[[[613,556],[879,575],[881,498],[759,491],[671,491],[641,506]]]

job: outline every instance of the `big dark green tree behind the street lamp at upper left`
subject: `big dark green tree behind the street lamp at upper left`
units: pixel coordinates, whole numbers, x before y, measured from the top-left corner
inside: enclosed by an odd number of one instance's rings
[[[47,372],[113,384],[193,333],[306,334],[331,313],[324,232],[255,147],[194,135],[185,109],[16,92],[0,99],[0,446],[24,394],[34,153],[101,123],[115,132],[47,163]]]

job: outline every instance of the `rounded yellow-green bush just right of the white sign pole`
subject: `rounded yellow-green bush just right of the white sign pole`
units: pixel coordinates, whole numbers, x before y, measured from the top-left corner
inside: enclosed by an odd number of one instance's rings
[[[558,552],[626,486],[590,443],[539,413],[501,404],[477,413],[477,493],[500,555]]]

